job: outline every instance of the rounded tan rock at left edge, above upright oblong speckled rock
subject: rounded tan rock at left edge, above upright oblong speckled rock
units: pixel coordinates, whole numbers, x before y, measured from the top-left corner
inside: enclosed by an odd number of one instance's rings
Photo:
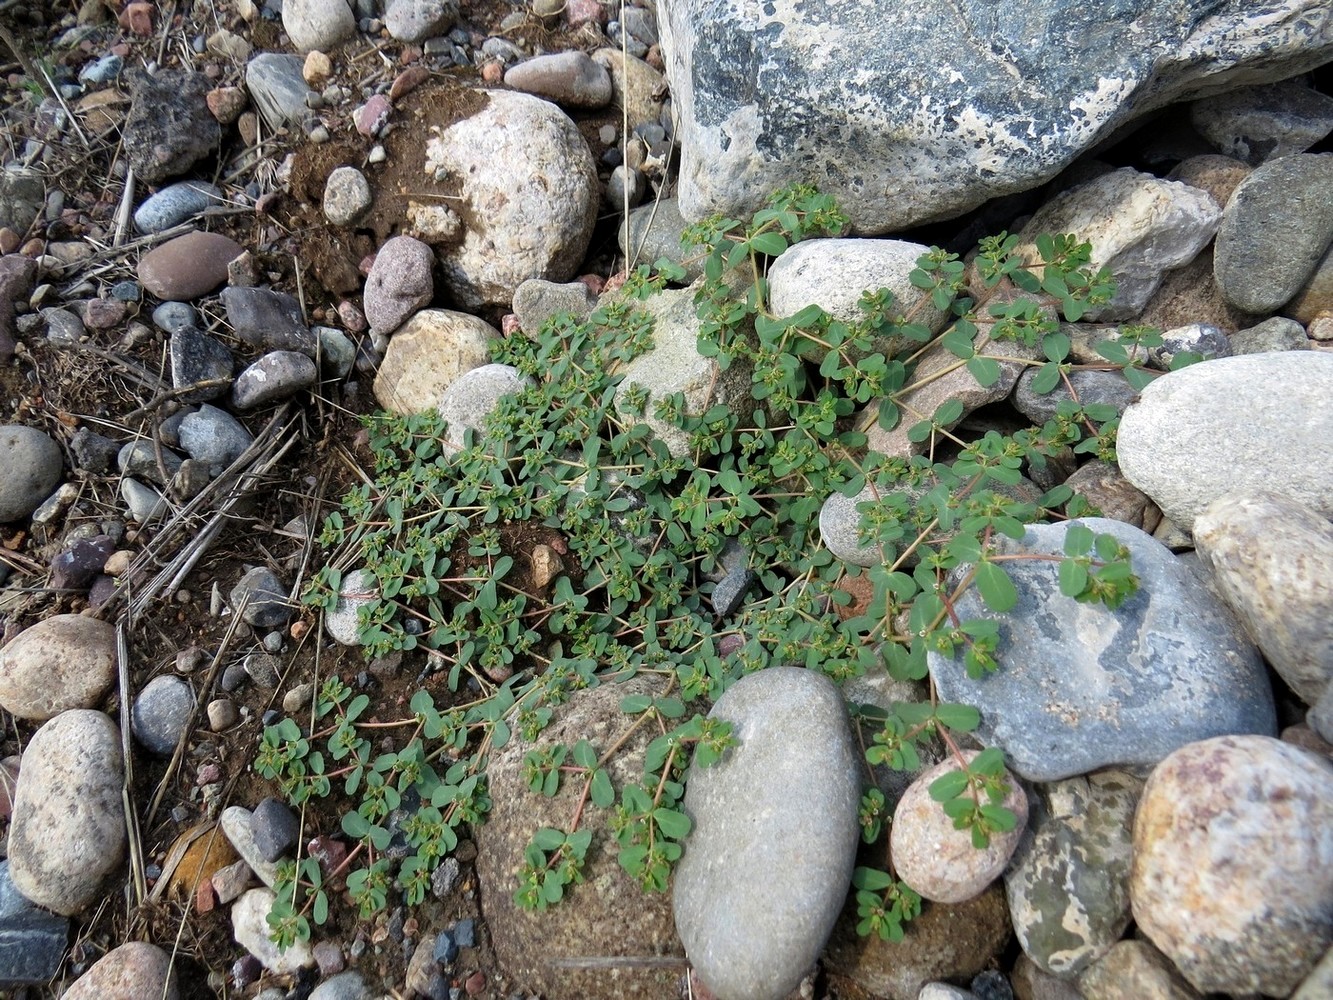
[[[116,629],[83,615],[53,615],[0,649],[0,707],[53,719],[96,707],[116,680]]]

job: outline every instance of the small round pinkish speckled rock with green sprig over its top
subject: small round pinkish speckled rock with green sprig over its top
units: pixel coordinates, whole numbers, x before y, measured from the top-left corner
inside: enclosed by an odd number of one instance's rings
[[[964,756],[972,761],[977,751],[964,751]],[[954,829],[953,820],[930,797],[930,784],[958,769],[953,757],[940,761],[908,785],[893,809],[893,867],[902,881],[937,903],[964,903],[985,892],[1009,864],[1028,823],[1028,795],[1005,771],[1009,793],[1002,805],[1018,823],[1008,833],[992,835],[985,849],[973,847],[970,831]]]

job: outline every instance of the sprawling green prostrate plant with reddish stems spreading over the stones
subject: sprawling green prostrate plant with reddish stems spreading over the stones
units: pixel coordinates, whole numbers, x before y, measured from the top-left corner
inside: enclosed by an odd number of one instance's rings
[[[585,323],[560,316],[532,337],[500,341],[495,360],[516,367],[531,387],[503,400],[485,433],[469,431],[465,447],[445,444],[435,413],[368,419],[373,477],[325,520],[320,540],[332,553],[307,601],[331,611],[343,571],[368,569],[375,585],[360,595],[359,611],[365,653],[424,648],[424,687],[408,717],[369,721],[368,697],[332,679],[308,728],[291,719],[269,727],[256,761],[293,804],[340,783],[352,807],[343,832],[355,847],[337,875],[349,872],[363,915],[395,889],[408,903],[423,897],[460,825],[485,817],[489,756],[515,732],[535,740],[580,688],[635,675],[660,680],[656,695],[624,699],[625,731],[612,745],[579,740],[527,753],[524,777],[535,793],[555,795],[569,780],[580,789],[565,828],[535,831],[527,849],[515,899],[529,909],[557,903],[581,879],[589,808],[611,811],[625,871],[645,889],[665,891],[689,833],[680,809],[688,769],[718,760],[733,743],[725,723],[692,708],[706,709],[745,673],[800,664],[838,681],[885,668],[922,680],[932,649],[961,652],[972,676],[997,669],[998,623],[961,620],[958,597],[976,587],[993,612],[1008,611],[1016,591],[1004,567],[1018,556],[1002,553],[997,540],[1022,537],[1025,524],[1058,517],[1061,508],[1066,516],[1084,509],[1068,487],[1013,499],[1024,467],[1070,448],[1113,457],[1114,412],[1078,403],[1068,377],[1070,343],[1052,308],[1077,317],[1110,285],[1088,269],[1088,247],[1070,237],[1038,240],[1041,260],[1029,264],[1016,256],[1016,239],[1001,236],[984,241],[970,276],[956,255],[922,256],[912,284],[924,296],[905,311],[878,289],[864,296],[854,323],[818,307],[773,316],[769,260],[844,225],[832,200],[790,188],[748,224],[716,217],[685,233],[685,245],[708,247],[697,289],[700,352],[722,369],[738,359],[753,368],[756,408],[745,420],[724,405],[686,412],[680,393],[643,385],[627,387],[613,405],[625,365],[652,345],[652,320],[637,301],[682,275],[666,261],[656,272],[640,268],[623,296]],[[950,316],[940,335],[917,321],[926,301]],[[885,356],[874,344],[889,336],[913,347]],[[1128,377],[1152,377],[1136,365],[1153,336],[1121,331],[1102,355]],[[1041,387],[1070,389],[1054,419],[965,440],[946,429],[961,408],[945,404],[910,428],[913,440],[929,443],[925,456],[865,452],[857,412],[884,427],[901,420],[926,349],[942,344],[954,367],[990,383],[1000,359],[986,347],[1002,340],[1040,347],[1042,360],[1030,364]],[[670,453],[652,435],[640,419],[648,412],[686,433],[685,453]],[[832,493],[850,497],[866,487],[874,499],[860,505],[861,535],[880,559],[866,572],[872,596],[853,613],[848,581],[857,571],[822,545],[817,517]],[[533,529],[545,532],[540,545]],[[521,572],[536,567],[539,548],[543,579]],[[714,581],[738,568],[753,573],[745,600],[714,613]],[[1064,593],[1116,604],[1136,583],[1114,539],[1069,532]],[[448,711],[437,708],[440,695]],[[976,727],[974,709],[940,703],[932,689],[928,704],[853,712],[876,727],[868,771],[914,769],[916,747],[938,736],[961,765],[932,789],[954,824],[977,844],[1012,828],[1000,805],[1000,753],[969,764],[954,737]],[[616,789],[607,763],[641,727],[656,733],[643,780]],[[385,735],[397,749],[376,755]],[[862,808],[866,839],[882,836],[885,821],[882,795],[872,788]],[[280,941],[308,936],[308,917],[327,917],[332,875],[311,859],[284,869],[271,916]],[[862,933],[900,936],[920,908],[886,872],[858,869],[856,888]]]

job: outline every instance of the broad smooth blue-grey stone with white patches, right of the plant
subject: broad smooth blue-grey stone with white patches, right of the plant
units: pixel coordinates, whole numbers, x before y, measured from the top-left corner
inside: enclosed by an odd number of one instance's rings
[[[1128,547],[1138,591],[1116,609],[1060,593],[1070,524]],[[1138,528],[1086,517],[1001,539],[1017,589],[1013,609],[993,612],[976,587],[954,603],[962,621],[1000,623],[998,669],[966,676],[961,652],[929,653],[940,697],[981,711],[977,739],[1000,747],[1032,781],[1057,781],[1113,765],[1152,765],[1210,736],[1277,732],[1273,691],[1244,629],[1208,587]],[[965,572],[960,567],[956,573]]]

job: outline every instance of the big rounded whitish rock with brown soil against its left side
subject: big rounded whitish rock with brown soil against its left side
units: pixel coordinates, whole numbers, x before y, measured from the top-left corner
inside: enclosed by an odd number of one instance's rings
[[[508,305],[529,277],[567,281],[597,216],[597,171],[579,129],[555,104],[487,92],[487,107],[427,141],[427,173],[465,177],[460,243],[437,249],[460,305]]]

